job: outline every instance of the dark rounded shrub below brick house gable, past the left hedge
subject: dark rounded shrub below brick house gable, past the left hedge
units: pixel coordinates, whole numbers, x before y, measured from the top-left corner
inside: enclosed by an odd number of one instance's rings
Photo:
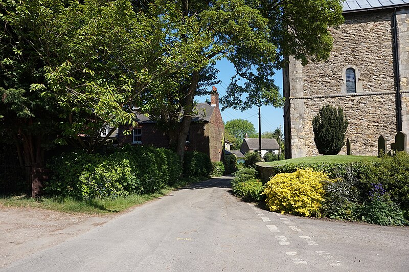
[[[185,152],[183,175],[185,177],[206,177],[212,172],[210,157],[198,151]]]

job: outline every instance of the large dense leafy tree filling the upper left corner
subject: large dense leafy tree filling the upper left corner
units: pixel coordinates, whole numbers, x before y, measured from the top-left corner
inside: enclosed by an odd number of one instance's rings
[[[0,0],[0,15],[0,129],[28,179],[54,143],[94,152],[134,123],[162,30],[130,1]]]

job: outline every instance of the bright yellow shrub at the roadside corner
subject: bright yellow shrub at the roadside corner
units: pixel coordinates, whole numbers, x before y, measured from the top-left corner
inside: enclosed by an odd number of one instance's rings
[[[294,173],[281,173],[271,177],[265,185],[267,207],[272,212],[320,217],[324,201],[323,172],[299,169]]]

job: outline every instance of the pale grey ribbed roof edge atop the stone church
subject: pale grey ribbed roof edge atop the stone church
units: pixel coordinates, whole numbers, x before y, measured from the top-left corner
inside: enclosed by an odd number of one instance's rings
[[[344,12],[391,8],[409,4],[409,0],[346,0]]]

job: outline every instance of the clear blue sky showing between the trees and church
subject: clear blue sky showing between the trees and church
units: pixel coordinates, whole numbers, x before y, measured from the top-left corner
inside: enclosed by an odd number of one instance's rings
[[[217,69],[220,71],[217,77],[221,80],[220,84],[216,85],[217,91],[220,97],[226,94],[226,88],[228,87],[231,77],[235,74],[233,65],[225,60],[219,60],[216,64]],[[277,71],[274,78],[277,86],[280,87],[280,93],[283,94],[283,77],[282,72]],[[211,86],[210,86],[211,88]],[[209,98],[210,99],[210,98]],[[197,97],[196,100],[199,102],[205,102],[206,97]],[[258,108],[253,107],[246,111],[225,109],[221,112],[221,116],[224,122],[232,119],[245,119],[253,123],[256,131],[259,131],[259,121],[258,121]],[[281,125],[283,130],[283,108],[275,108],[273,106],[261,107],[261,132],[264,131],[274,131],[277,127]]]

